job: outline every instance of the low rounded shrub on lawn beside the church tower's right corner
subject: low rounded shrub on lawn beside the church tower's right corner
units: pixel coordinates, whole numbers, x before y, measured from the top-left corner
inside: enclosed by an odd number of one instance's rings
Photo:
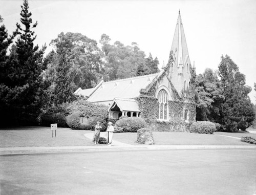
[[[216,131],[215,124],[209,121],[198,121],[190,125],[190,132],[196,134],[213,134]]]

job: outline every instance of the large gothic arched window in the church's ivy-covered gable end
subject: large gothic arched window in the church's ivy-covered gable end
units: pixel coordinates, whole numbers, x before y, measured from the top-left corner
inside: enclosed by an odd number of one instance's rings
[[[159,103],[159,120],[168,120],[168,96],[167,92],[162,89],[158,93]]]

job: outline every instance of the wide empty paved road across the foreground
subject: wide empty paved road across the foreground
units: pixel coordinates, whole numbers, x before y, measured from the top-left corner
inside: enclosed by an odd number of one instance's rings
[[[0,156],[1,194],[256,193],[253,149]]]

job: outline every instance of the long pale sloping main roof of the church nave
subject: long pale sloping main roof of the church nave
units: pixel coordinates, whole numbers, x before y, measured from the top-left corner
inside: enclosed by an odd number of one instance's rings
[[[144,89],[155,79],[159,73],[137,76],[132,78],[114,80],[109,82],[101,81],[95,88],[80,90],[74,94],[91,94],[87,99],[90,102],[113,101],[114,98],[136,98],[140,95],[140,90]],[[89,91],[91,90],[91,91]]]

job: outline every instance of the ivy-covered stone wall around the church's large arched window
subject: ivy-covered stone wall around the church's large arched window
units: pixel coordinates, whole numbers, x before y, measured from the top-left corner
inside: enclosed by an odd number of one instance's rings
[[[179,96],[173,85],[170,86],[170,91],[175,100],[168,101],[169,120],[158,120],[159,103],[155,94],[164,76],[161,75],[156,82],[152,82],[146,89],[140,91],[140,96],[136,98],[141,111],[140,116],[154,132],[188,132],[190,124],[196,119],[196,104],[189,93]],[[187,112],[186,120],[185,112]]]

